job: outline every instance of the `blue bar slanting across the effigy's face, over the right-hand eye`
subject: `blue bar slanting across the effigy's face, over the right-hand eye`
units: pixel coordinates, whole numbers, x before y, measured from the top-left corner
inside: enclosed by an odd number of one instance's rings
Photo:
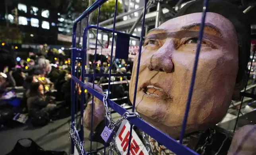
[[[196,49],[196,58],[195,58],[195,62],[194,62],[191,84],[190,84],[190,89],[189,89],[189,93],[188,93],[186,111],[185,111],[185,115],[184,115],[184,119],[183,119],[183,123],[182,123],[182,129],[181,129],[181,132],[180,132],[180,144],[182,144],[182,140],[183,140],[183,137],[184,137],[184,133],[185,133],[185,129],[186,129],[186,123],[187,123],[187,120],[188,120],[188,112],[189,112],[189,108],[190,108],[190,102],[191,102],[191,98],[192,98],[192,95],[193,95],[193,88],[194,88],[194,82],[195,82],[195,79],[196,79],[196,70],[197,70],[197,65],[198,65],[198,58],[199,58],[201,43],[202,43],[202,39],[203,39],[203,35],[204,35],[204,25],[205,25],[205,20],[206,20],[207,8],[208,8],[208,0],[204,0],[203,15],[202,15],[202,21],[201,21],[201,25],[200,25],[200,32],[199,32],[199,36],[198,36],[198,44],[197,44],[197,49]]]

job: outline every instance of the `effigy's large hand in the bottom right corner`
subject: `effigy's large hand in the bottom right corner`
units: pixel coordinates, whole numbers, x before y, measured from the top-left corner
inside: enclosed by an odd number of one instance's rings
[[[245,125],[235,132],[228,155],[256,155],[256,126]]]

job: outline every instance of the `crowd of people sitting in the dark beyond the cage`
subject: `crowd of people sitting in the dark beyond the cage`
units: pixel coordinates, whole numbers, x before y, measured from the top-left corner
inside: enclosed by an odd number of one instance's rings
[[[43,48],[46,48],[45,46]],[[49,52],[45,52],[49,51]],[[51,52],[51,49],[41,49],[37,53],[28,55],[27,60],[16,59],[11,50],[0,49],[0,97],[7,91],[7,88],[16,90],[23,89],[21,106],[25,107],[34,125],[45,125],[54,115],[58,115],[58,101],[60,106],[70,107],[71,105],[71,59],[60,57],[59,54]],[[63,56],[63,55],[62,55]],[[102,59],[104,57],[104,59]],[[95,73],[108,73],[110,59],[107,56],[100,56],[96,64]],[[130,73],[132,61],[116,59],[112,73]],[[81,62],[76,61],[76,76],[81,78]],[[89,74],[93,73],[94,60],[90,60],[85,69]],[[114,69],[116,68],[116,69]],[[127,78],[125,78],[128,80]],[[112,81],[120,81],[122,77],[112,77]],[[93,82],[93,77],[88,77],[88,82]],[[95,83],[107,83],[108,77],[96,77]],[[124,96],[125,89],[122,84],[114,86],[115,97]],[[117,90],[117,91],[116,91]],[[81,89],[77,89],[78,94]]]

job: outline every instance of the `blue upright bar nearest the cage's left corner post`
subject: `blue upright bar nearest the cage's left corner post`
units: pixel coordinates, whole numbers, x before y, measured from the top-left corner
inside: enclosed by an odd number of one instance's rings
[[[89,15],[87,16],[87,26],[88,26],[88,23],[89,23]],[[82,60],[82,72],[81,72],[81,81],[84,82],[84,79],[85,79],[85,62],[86,62],[86,49],[87,49],[87,34],[88,34],[88,31],[87,29],[85,28],[83,30],[83,36],[85,34],[85,39],[83,39],[83,43],[82,43],[82,57],[83,57],[83,60]],[[81,123],[80,123],[80,140],[83,141],[83,105],[84,105],[84,100],[85,100],[85,92],[84,92],[84,88],[81,87],[81,104],[80,104],[80,117],[81,117]]]

